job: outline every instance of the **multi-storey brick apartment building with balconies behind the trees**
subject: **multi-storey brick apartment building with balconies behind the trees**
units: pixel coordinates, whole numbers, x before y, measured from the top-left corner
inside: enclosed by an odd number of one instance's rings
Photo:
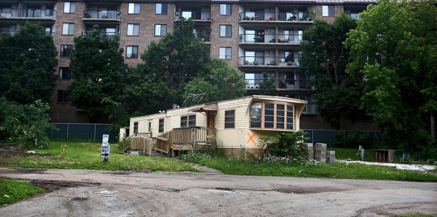
[[[302,129],[331,129],[316,115],[309,94],[311,79],[299,69],[304,28],[315,18],[332,22],[345,12],[352,18],[375,0],[2,0],[0,31],[14,33],[25,21],[41,22],[59,49],[55,91],[49,111],[54,123],[87,123],[86,114],[69,105],[69,54],[73,37],[87,35],[99,25],[101,37],[120,36],[125,61],[141,63],[139,54],[183,18],[192,18],[193,37],[210,44],[211,57],[225,59],[246,75],[247,95],[258,94],[262,72],[275,80],[277,95],[309,102]],[[104,122],[103,122],[104,123]],[[368,130],[370,121],[361,124]],[[347,123],[344,123],[346,128]]]

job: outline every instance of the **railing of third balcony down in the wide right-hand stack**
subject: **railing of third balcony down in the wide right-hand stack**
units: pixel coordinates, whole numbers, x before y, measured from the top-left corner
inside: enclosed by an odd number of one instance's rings
[[[240,56],[239,66],[299,66],[299,57]]]

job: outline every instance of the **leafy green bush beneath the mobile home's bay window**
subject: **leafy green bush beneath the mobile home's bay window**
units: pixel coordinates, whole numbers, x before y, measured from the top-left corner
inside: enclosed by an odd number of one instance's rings
[[[308,140],[309,138],[303,137],[306,134],[308,133],[299,130],[295,133],[276,134],[277,138],[267,137],[270,140],[274,140],[275,143],[269,144],[266,148],[266,151],[275,157],[297,157],[305,154],[305,146],[298,142]]]

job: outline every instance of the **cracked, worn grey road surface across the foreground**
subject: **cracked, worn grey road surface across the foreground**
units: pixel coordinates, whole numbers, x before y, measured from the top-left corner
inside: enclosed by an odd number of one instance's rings
[[[0,208],[9,216],[437,215],[437,183],[204,173],[0,168],[48,192]]]

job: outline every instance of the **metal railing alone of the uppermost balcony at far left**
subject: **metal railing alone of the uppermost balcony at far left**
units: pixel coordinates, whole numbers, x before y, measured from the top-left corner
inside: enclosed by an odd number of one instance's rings
[[[53,9],[17,9],[2,8],[0,17],[15,18],[56,18],[56,11]]]

